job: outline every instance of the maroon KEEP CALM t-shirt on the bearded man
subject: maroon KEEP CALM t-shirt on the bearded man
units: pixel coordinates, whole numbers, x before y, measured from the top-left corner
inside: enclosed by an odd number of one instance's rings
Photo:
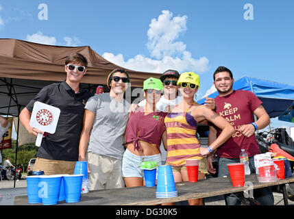
[[[260,150],[255,135],[247,138],[237,130],[242,125],[254,122],[253,112],[262,104],[262,101],[249,90],[234,90],[228,96],[217,96],[215,104],[217,105],[217,114],[223,116],[235,129],[232,138],[219,146],[217,156],[238,158],[241,149],[245,149],[249,157],[259,154]],[[221,130],[217,128],[217,136],[220,133]]]

